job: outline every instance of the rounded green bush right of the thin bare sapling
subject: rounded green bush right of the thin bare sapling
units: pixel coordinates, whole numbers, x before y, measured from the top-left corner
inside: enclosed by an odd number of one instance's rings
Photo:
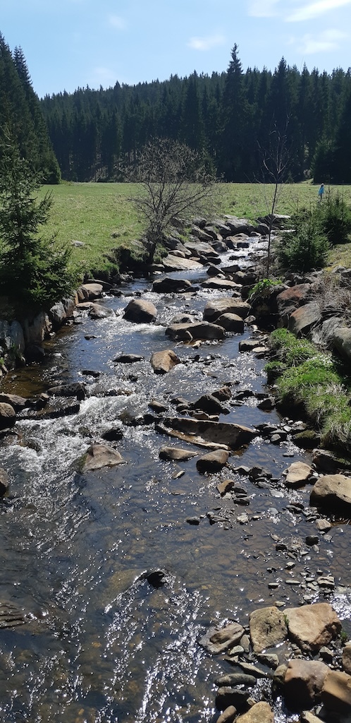
[[[285,236],[277,249],[282,268],[308,272],[324,268],[328,260],[329,241],[316,213],[308,215],[296,231]]]

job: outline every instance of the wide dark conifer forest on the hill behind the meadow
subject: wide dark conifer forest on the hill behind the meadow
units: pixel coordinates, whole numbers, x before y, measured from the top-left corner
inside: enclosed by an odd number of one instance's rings
[[[46,96],[42,108],[64,179],[123,180],[148,140],[168,137],[226,181],[264,180],[262,153],[276,131],[291,180],[351,183],[351,69],[299,72],[282,58],[274,72],[243,72],[234,46],[227,72],[78,88]]]

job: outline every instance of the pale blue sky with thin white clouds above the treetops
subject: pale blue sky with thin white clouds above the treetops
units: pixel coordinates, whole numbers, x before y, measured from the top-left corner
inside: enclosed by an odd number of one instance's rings
[[[40,97],[222,72],[234,43],[244,71],[351,66],[351,0],[0,0],[0,33]]]

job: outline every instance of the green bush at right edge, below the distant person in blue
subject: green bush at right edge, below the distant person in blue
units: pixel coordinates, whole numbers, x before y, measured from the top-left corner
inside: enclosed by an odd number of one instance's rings
[[[351,210],[345,198],[337,192],[327,194],[326,200],[316,208],[313,217],[320,219],[321,228],[331,246],[345,244],[351,234]]]

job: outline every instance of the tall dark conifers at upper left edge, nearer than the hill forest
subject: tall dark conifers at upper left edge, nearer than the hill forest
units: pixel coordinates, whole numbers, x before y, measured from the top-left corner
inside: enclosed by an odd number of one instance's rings
[[[0,131],[1,140],[17,140],[20,156],[45,183],[58,183],[60,168],[48,136],[38,95],[32,87],[21,48],[12,54],[0,33]],[[0,147],[0,161],[1,161]]]

